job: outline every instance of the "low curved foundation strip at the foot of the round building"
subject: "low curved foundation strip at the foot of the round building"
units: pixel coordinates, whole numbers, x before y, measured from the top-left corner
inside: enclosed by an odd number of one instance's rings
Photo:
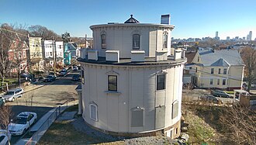
[[[85,122],[86,123],[86,122]],[[147,133],[118,133],[118,132],[112,132],[108,130],[103,130],[96,128],[95,126],[91,126],[90,124],[86,123],[88,126],[90,126],[92,129],[98,130],[102,133],[106,133],[112,136],[125,136],[125,137],[143,137],[143,136],[169,136],[171,139],[177,138],[181,133],[181,120],[179,120],[177,123],[175,123],[173,126],[168,126],[164,129],[158,129],[158,130],[152,130]]]

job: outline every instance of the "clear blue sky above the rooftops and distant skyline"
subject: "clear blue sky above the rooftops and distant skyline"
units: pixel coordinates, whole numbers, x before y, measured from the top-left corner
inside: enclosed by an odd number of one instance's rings
[[[57,34],[92,36],[89,26],[125,22],[130,14],[140,23],[160,23],[171,14],[175,38],[256,37],[255,0],[0,0],[0,24],[41,25]]]

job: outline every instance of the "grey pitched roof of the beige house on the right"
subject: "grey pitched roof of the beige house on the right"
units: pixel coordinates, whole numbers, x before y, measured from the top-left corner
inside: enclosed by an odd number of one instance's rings
[[[203,66],[244,65],[237,50],[199,50]]]

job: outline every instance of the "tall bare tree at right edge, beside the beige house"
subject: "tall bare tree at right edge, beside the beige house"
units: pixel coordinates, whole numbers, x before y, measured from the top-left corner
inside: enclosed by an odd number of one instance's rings
[[[256,70],[256,50],[252,47],[244,47],[241,51],[241,57],[245,64],[245,76],[247,77],[247,91],[250,92],[251,84],[255,79],[254,71]]]

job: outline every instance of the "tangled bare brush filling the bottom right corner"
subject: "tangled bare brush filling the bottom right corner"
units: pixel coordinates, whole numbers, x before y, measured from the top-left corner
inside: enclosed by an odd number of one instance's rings
[[[242,105],[224,109],[220,123],[226,130],[225,138],[232,144],[256,143],[256,113]]]

